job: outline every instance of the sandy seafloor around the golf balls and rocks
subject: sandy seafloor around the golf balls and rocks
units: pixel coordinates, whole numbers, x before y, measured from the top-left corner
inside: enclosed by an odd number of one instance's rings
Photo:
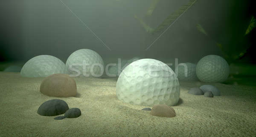
[[[123,103],[116,98],[116,78],[74,78],[77,97],[58,98],[78,118],[54,120],[37,114],[45,101],[55,99],[39,92],[43,78],[23,78],[19,73],[0,72],[0,136],[51,137],[235,137],[256,136],[256,86],[213,83],[221,96],[206,98],[188,90],[205,83],[180,81],[176,116],[156,117],[146,106]]]

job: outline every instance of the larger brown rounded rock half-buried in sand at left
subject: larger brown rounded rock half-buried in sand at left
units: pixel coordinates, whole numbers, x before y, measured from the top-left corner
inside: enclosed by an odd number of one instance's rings
[[[67,74],[53,74],[44,78],[40,92],[53,97],[76,96],[76,81]]]

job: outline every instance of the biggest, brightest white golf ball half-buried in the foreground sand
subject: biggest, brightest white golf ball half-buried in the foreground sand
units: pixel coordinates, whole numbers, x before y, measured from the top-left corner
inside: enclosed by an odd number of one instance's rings
[[[129,64],[116,83],[120,101],[140,106],[177,104],[180,85],[172,69],[155,59],[140,59]]]

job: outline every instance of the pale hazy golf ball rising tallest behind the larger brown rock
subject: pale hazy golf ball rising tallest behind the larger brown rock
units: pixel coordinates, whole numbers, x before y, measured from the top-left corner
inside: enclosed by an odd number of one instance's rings
[[[100,77],[104,73],[102,57],[93,50],[80,49],[73,52],[66,62],[71,76]]]

